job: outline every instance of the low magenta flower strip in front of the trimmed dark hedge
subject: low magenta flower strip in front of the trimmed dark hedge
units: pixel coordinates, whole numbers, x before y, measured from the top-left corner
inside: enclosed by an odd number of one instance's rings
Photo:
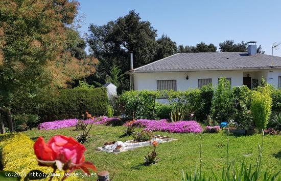
[[[85,123],[93,123],[95,125],[101,125],[106,124],[115,120],[120,120],[116,117],[106,117],[103,116],[101,118],[96,119],[87,119],[84,120]],[[61,128],[68,128],[68,127],[74,127],[78,122],[78,119],[64,119],[64,120],[55,120],[54,122],[45,122],[38,125],[38,130],[55,130],[55,129],[61,129]]]

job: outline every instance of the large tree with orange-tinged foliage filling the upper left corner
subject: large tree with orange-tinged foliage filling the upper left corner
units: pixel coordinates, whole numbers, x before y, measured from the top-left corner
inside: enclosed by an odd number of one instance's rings
[[[66,50],[67,24],[79,3],[68,0],[10,0],[0,3],[0,110],[13,131],[13,102],[30,101],[56,80],[71,80],[85,65]],[[63,77],[60,77],[63,75]],[[73,77],[72,77],[73,76]],[[61,82],[60,82],[61,83]]]

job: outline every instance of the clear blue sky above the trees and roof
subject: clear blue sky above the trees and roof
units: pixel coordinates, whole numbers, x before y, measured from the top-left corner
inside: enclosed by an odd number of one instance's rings
[[[79,14],[85,15],[81,33],[90,23],[103,25],[135,10],[142,20],[150,21],[158,37],[167,34],[177,45],[236,43],[257,41],[266,54],[273,42],[281,43],[281,1],[90,1],[80,2]],[[280,49],[274,55],[281,56]]]

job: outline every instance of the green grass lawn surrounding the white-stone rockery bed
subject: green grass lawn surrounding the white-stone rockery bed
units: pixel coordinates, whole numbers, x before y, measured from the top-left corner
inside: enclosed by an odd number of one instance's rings
[[[143,166],[144,156],[151,151],[151,147],[140,147],[118,155],[100,152],[97,147],[107,141],[126,141],[131,136],[122,137],[122,126],[92,127],[89,142],[85,144],[87,151],[86,160],[94,163],[99,171],[107,170],[110,175],[115,172],[114,180],[179,180],[181,171],[194,170],[199,166],[199,149],[202,143],[203,172],[206,175],[212,174],[212,169],[221,173],[226,165],[227,136],[220,134],[172,134],[166,132],[155,132],[155,134],[170,136],[178,139],[158,146],[160,161],[157,165]],[[48,140],[54,135],[77,136],[80,132],[74,128],[59,130],[30,130],[25,132],[33,140],[43,136]],[[257,144],[261,143],[262,136],[230,136],[229,137],[229,158],[236,159],[237,163],[245,161],[248,164],[255,164],[257,157]],[[281,136],[267,135],[264,138],[264,151],[262,169],[273,173],[281,170]],[[88,178],[89,180],[92,178]]]

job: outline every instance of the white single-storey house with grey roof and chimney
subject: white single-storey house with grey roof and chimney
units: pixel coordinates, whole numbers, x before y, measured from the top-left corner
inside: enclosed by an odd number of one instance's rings
[[[253,88],[265,81],[281,87],[281,57],[256,53],[256,42],[248,52],[177,53],[127,72],[135,90],[186,90],[218,84],[226,77],[231,86]],[[132,59],[131,59],[132,62]],[[132,67],[132,66],[131,66]]]

